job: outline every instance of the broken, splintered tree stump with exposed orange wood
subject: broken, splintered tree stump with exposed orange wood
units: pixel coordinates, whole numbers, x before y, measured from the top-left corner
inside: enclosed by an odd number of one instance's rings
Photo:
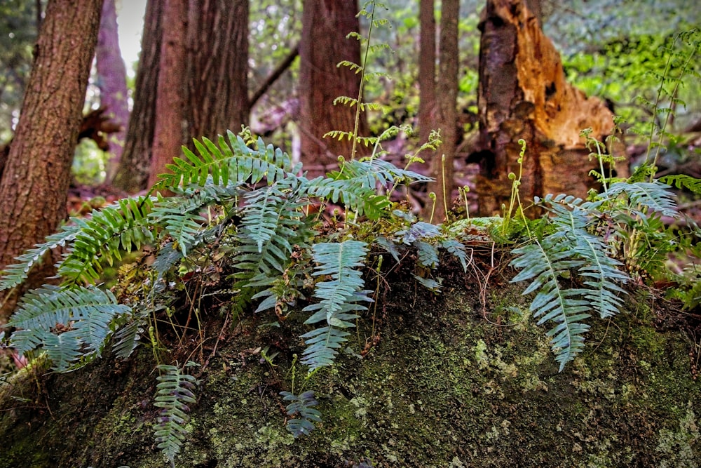
[[[508,205],[519,139],[526,141],[522,201],[560,192],[585,197],[598,165],[579,134],[591,127],[593,138],[605,138],[611,112],[566,83],[559,54],[522,0],[487,1],[479,27],[479,212],[493,215]]]

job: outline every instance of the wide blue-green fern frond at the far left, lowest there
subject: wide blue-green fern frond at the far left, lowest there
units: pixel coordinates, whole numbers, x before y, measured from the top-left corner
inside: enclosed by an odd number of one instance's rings
[[[62,371],[79,359],[84,364],[99,357],[112,334],[111,324],[130,312],[109,290],[47,285],[22,297],[8,326],[19,328],[12,335],[12,346],[20,354],[41,347],[53,368]]]

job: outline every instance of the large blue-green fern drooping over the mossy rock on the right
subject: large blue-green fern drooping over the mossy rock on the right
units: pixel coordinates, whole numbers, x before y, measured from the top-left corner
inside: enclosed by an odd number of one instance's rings
[[[601,318],[618,312],[622,306],[618,295],[625,290],[616,281],[625,283],[628,276],[618,269],[621,263],[611,258],[606,243],[588,232],[592,219],[601,215],[597,208],[603,201],[585,202],[565,195],[548,195],[536,201],[552,214],[554,233],[512,250],[518,256],[510,265],[522,269],[512,282],[532,280],[524,290],[524,294],[538,291],[531,313],[538,325],[556,323],[547,336],[562,372],[584,349],[584,335],[590,326],[583,321],[591,316],[589,312],[593,309]],[[561,280],[568,279],[571,270],[583,277],[587,287],[562,286]]]

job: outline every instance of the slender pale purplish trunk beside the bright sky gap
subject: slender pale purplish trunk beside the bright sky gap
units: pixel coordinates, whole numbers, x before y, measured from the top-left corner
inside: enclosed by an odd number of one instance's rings
[[[118,126],[121,126],[121,130],[109,135],[111,156],[107,164],[107,182],[110,182],[114,178],[124,151],[126,128],[129,123],[127,71],[119,51],[114,0],[104,0],[95,57],[97,86],[100,87],[100,104],[107,108],[107,116]]]

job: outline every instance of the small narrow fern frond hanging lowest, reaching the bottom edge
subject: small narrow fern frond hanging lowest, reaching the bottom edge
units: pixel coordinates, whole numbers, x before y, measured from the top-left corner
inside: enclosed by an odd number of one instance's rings
[[[175,457],[182,447],[187,434],[186,425],[189,422],[190,408],[186,403],[196,403],[193,390],[198,382],[192,375],[183,373],[176,366],[161,364],[158,370],[162,372],[158,380],[156,403],[161,408],[154,426],[156,443],[172,467],[175,467]]]

